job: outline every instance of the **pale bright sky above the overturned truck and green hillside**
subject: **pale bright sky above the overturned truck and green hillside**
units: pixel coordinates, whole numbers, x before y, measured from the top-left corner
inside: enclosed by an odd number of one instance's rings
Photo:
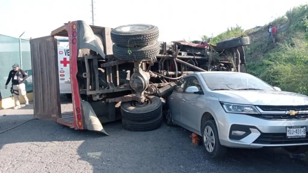
[[[94,24],[117,27],[146,23],[160,29],[160,41],[200,39],[236,24],[263,26],[308,0],[95,0]],[[0,0],[0,34],[22,38],[49,35],[67,21],[91,24],[91,0]]]

